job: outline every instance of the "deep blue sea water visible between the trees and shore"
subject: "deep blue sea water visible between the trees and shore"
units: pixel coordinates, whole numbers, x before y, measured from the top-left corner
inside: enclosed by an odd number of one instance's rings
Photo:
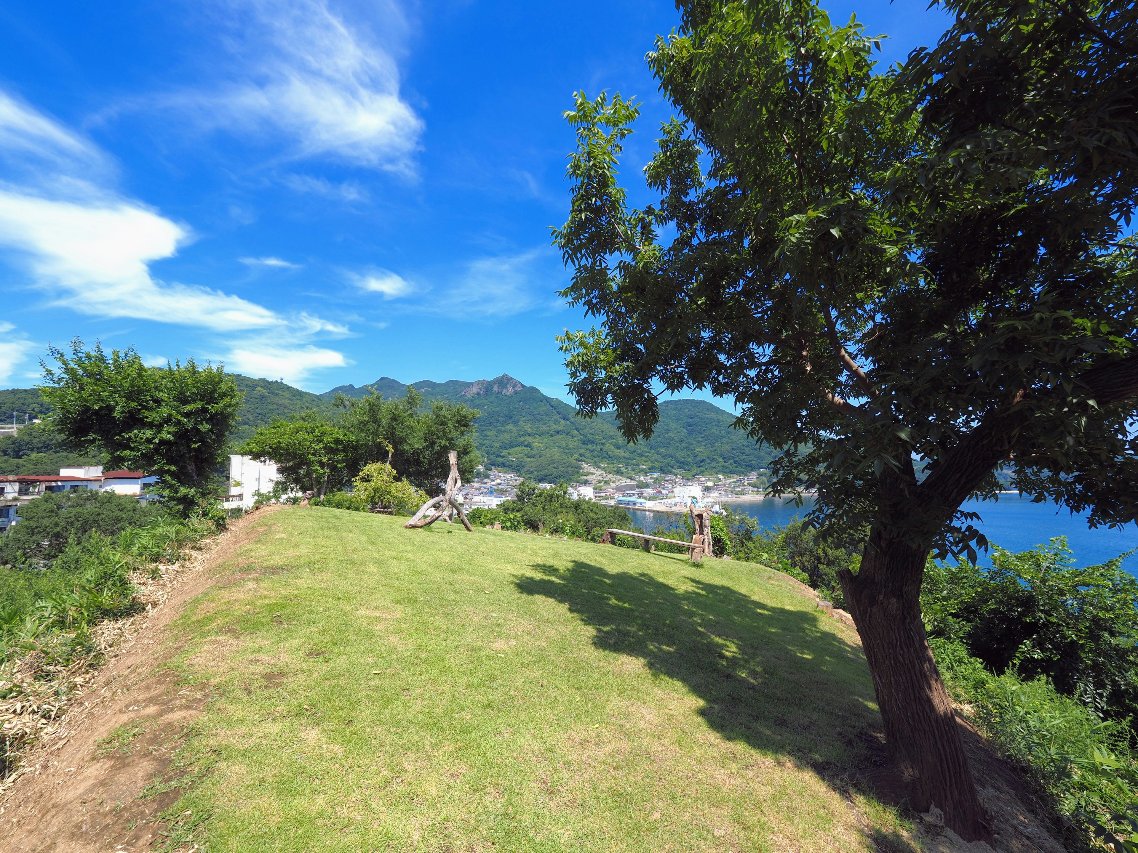
[[[732,503],[735,512],[747,513],[762,528],[785,524],[802,517],[810,511],[813,498],[803,499],[802,506],[783,498],[762,498],[747,503]],[[988,541],[1011,552],[1030,550],[1047,543],[1054,536],[1065,536],[1067,547],[1073,552],[1077,565],[1096,565],[1112,557],[1138,548],[1138,525],[1128,524],[1121,530],[1087,527],[1086,515],[1072,515],[1067,510],[1054,504],[1033,504],[1019,495],[1000,495],[999,500],[970,500],[967,508],[980,514],[976,528],[988,537]],[[668,527],[676,516],[667,513],[632,511],[633,521],[649,528]],[[982,564],[990,564],[984,556]],[[1123,568],[1138,574],[1138,554],[1128,557]]]

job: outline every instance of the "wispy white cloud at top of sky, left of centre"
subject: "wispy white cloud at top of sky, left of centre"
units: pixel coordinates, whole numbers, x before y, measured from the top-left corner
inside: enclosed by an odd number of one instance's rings
[[[233,57],[221,64],[225,82],[160,103],[199,129],[257,138],[284,159],[413,171],[423,123],[399,97],[395,61],[325,0],[225,3],[216,23],[228,26],[222,42]]]

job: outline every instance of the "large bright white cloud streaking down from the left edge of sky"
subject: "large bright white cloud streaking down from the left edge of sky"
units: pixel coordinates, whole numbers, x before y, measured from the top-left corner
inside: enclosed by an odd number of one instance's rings
[[[0,159],[27,165],[9,169],[0,182],[0,257],[27,270],[32,285],[55,305],[224,332],[242,364],[262,350],[270,361],[292,358],[306,370],[343,364],[341,354],[310,342],[347,334],[341,323],[308,313],[286,316],[220,290],[156,278],[150,265],[174,256],[189,229],[92,180],[92,164],[107,160],[96,147],[2,92]],[[104,177],[108,174],[104,168]],[[250,260],[292,266],[280,258]],[[6,325],[0,370],[9,370],[11,348],[23,346],[11,342],[14,330]],[[297,376],[303,370],[286,372]],[[278,368],[278,375],[284,373]]]

